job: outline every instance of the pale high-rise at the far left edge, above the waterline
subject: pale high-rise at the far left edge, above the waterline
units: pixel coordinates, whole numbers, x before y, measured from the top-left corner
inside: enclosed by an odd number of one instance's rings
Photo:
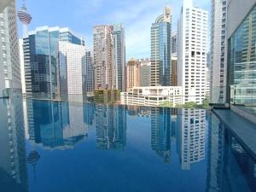
[[[16,3],[0,13],[0,97],[21,93]]]

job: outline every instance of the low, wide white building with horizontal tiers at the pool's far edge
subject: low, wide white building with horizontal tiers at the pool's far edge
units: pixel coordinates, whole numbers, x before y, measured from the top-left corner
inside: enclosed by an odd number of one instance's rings
[[[121,104],[125,105],[160,106],[164,102],[172,102],[173,107],[181,104],[182,87],[134,87],[121,93]]]

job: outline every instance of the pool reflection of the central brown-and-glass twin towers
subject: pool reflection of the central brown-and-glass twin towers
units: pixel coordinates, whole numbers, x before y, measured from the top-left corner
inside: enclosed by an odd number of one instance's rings
[[[126,107],[96,104],[95,116],[97,148],[124,150],[126,144]]]

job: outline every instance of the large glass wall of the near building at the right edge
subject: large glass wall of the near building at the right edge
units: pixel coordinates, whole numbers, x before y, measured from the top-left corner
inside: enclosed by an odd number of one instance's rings
[[[255,106],[256,6],[253,7],[229,39],[228,78],[230,103]]]

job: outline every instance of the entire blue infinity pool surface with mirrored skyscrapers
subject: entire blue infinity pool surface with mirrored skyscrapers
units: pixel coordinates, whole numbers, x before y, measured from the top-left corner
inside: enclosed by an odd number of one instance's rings
[[[0,100],[0,191],[256,190],[256,162],[203,109]]]

